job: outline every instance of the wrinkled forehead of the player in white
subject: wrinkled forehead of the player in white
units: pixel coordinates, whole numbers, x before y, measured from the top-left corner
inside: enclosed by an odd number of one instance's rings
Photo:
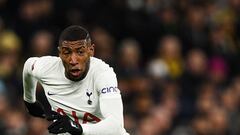
[[[76,41],[66,41],[62,42],[62,47],[64,48],[79,48],[87,45],[86,40],[76,40]]]

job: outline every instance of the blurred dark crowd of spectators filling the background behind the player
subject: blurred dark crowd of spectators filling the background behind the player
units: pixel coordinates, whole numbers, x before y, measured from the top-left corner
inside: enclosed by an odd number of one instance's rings
[[[22,68],[86,27],[112,67],[132,135],[240,135],[240,0],[0,0],[0,134],[46,135]],[[37,98],[49,109],[42,87]]]

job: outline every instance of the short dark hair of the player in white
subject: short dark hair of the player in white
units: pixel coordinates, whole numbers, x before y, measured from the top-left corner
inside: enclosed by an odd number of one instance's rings
[[[79,25],[71,25],[65,28],[60,37],[58,44],[62,45],[63,41],[76,41],[76,40],[86,40],[87,42],[91,41],[89,32]]]

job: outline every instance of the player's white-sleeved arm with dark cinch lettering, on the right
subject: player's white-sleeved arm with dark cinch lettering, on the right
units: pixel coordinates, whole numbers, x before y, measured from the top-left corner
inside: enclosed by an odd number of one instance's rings
[[[120,135],[124,130],[123,104],[117,78],[113,71],[103,72],[96,80],[100,112],[103,120],[96,124],[83,124],[84,135]]]

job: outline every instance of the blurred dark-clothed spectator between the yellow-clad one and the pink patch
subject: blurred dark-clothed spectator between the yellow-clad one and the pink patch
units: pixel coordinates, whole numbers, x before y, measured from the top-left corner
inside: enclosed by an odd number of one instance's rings
[[[201,85],[207,81],[207,57],[200,49],[192,49],[186,56],[185,70],[180,82],[180,117],[192,117],[195,101]]]

